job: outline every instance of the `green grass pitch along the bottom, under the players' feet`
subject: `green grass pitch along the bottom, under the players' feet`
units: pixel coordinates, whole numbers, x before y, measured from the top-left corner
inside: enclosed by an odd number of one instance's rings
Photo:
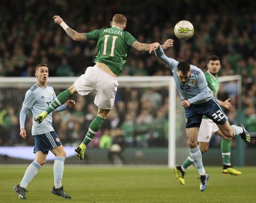
[[[221,167],[205,167],[208,188],[200,192],[199,174],[187,170],[180,185],[167,167],[65,166],[62,185],[73,199],[51,195],[52,165],[45,165],[26,188],[29,200],[12,191],[27,166],[0,165],[0,203],[256,203],[256,167],[237,167],[240,176],[222,174]]]

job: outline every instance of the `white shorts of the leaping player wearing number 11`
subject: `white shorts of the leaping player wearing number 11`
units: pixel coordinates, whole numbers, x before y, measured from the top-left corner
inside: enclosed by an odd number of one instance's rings
[[[112,109],[118,86],[116,77],[110,76],[97,66],[90,66],[74,84],[78,94],[82,96],[95,90],[95,105],[101,109]]]

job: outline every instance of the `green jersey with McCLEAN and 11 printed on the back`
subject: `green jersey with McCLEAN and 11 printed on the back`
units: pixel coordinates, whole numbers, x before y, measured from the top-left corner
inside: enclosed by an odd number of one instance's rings
[[[86,33],[87,40],[97,40],[97,56],[93,62],[106,64],[117,76],[127,57],[127,47],[137,41],[130,33],[118,27],[95,29]]]

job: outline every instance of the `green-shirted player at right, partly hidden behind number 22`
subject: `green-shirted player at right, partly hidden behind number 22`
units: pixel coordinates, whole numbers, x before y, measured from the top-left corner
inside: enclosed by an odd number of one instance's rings
[[[217,97],[219,91],[219,79],[217,74],[221,68],[219,57],[216,55],[212,55],[208,58],[207,63],[208,71],[205,72],[205,78],[208,83],[208,87],[212,90],[212,93]],[[230,98],[225,101],[219,100],[219,104],[226,109],[230,109],[231,103]],[[223,135],[223,133],[219,130],[216,123],[212,120],[208,119],[206,116],[203,116],[199,133],[198,133],[198,143],[201,153],[207,152],[209,148],[209,141],[212,137],[212,134],[217,134],[222,137],[221,140],[221,153],[223,159],[223,174],[232,174],[232,175],[240,175],[241,172],[235,170],[230,163],[230,152],[231,152],[231,139],[227,138]],[[187,159],[180,166],[174,167],[174,172],[176,173],[176,177],[181,185],[185,184],[184,174],[187,167],[189,167],[193,163],[191,156],[188,156]]]

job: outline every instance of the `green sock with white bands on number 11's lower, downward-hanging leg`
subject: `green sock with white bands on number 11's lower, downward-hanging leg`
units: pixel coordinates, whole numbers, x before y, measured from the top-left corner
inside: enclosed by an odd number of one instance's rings
[[[85,146],[88,145],[88,143],[94,138],[95,134],[98,132],[99,128],[101,127],[102,123],[105,119],[96,116],[93,121],[91,121],[91,124],[89,125],[88,132],[83,140],[83,143]]]

